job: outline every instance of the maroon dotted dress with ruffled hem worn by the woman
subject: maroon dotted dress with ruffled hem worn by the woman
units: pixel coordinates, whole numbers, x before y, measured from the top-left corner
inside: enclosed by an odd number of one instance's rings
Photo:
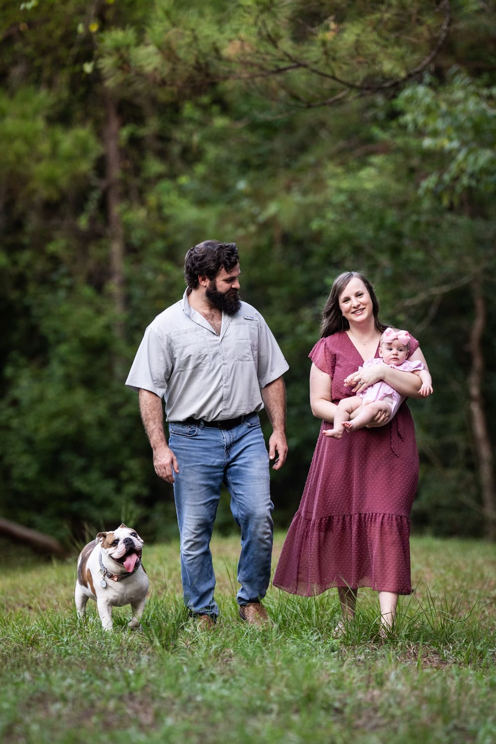
[[[410,354],[419,342],[410,341]],[[344,379],[363,364],[347,333],[315,344],[312,362],[332,377],[332,403],[353,395]],[[376,350],[379,356],[379,346]],[[274,586],[309,597],[332,586],[411,593],[410,510],[419,478],[406,403],[385,426],[339,440],[321,432],[305,490],[274,574]]]

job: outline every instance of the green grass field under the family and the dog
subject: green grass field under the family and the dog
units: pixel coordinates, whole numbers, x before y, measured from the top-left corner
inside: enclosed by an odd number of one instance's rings
[[[274,545],[274,565],[283,535]],[[178,545],[147,546],[141,629],[94,603],[77,621],[76,561],[42,562],[2,544],[0,737],[9,744],[496,742],[496,551],[416,538],[416,591],[396,631],[377,637],[364,589],[339,641],[335,591],[304,599],[270,589],[275,621],[257,631],[236,606],[238,540],[213,540],[216,629],[184,622]]]

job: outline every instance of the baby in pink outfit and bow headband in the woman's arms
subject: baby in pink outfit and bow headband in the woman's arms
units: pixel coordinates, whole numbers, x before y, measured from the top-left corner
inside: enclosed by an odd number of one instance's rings
[[[367,359],[364,362],[364,368],[385,364],[402,372],[418,374],[422,380],[419,393],[427,397],[432,393],[431,375],[422,362],[408,362],[409,341],[408,331],[386,328],[379,341],[380,358]],[[344,380],[345,385],[350,384],[347,379]],[[379,413],[387,415],[387,420],[380,425],[384,426],[390,422],[404,400],[404,395],[400,395],[398,391],[380,379],[379,382],[374,382],[357,395],[341,400],[335,411],[333,428],[327,429],[323,434],[326,437],[341,439],[345,429],[347,432],[363,429]]]

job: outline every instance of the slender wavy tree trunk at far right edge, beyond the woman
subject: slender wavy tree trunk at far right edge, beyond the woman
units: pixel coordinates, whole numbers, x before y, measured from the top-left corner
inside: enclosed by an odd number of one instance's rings
[[[486,323],[486,302],[481,292],[482,284],[481,278],[477,277],[471,285],[475,317],[469,338],[472,366],[468,376],[468,393],[472,429],[479,458],[480,489],[483,513],[486,519],[485,533],[489,540],[494,541],[496,539],[495,478],[492,447],[486,422],[486,408],[482,394],[484,359],[481,340]]]

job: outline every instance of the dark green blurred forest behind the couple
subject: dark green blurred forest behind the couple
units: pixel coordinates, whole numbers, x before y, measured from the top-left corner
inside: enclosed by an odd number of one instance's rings
[[[318,435],[307,355],[321,307],[356,269],[434,379],[409,404],[413,528],[495,539],[495,10],[4,0],[2,517],[63,542],[120,519],[175,534],[123,382],[184,291],[187,248],[216,238],[238,244],[242,297],[290,365],[277,525]],[[227,499],[218,521],[231,527]]]

